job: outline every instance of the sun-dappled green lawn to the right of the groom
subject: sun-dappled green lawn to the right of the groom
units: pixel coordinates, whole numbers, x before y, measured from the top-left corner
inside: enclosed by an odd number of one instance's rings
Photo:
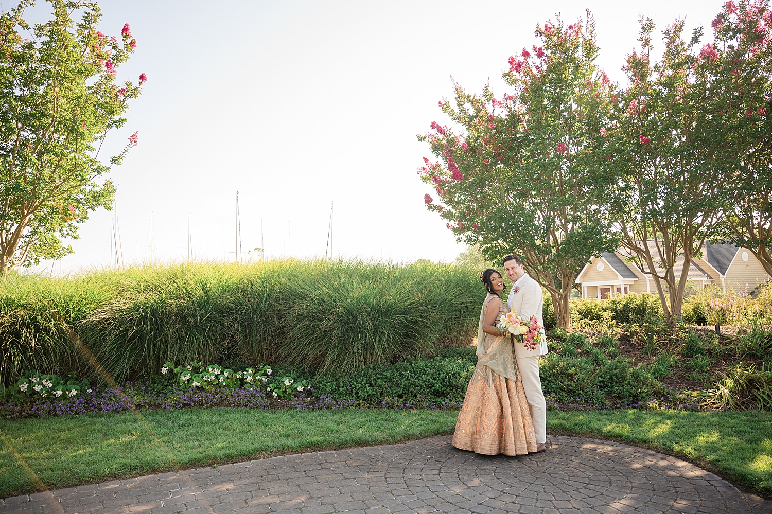
[[[664,450],[772,495],[772,412],[550,411],[547,431]]]

